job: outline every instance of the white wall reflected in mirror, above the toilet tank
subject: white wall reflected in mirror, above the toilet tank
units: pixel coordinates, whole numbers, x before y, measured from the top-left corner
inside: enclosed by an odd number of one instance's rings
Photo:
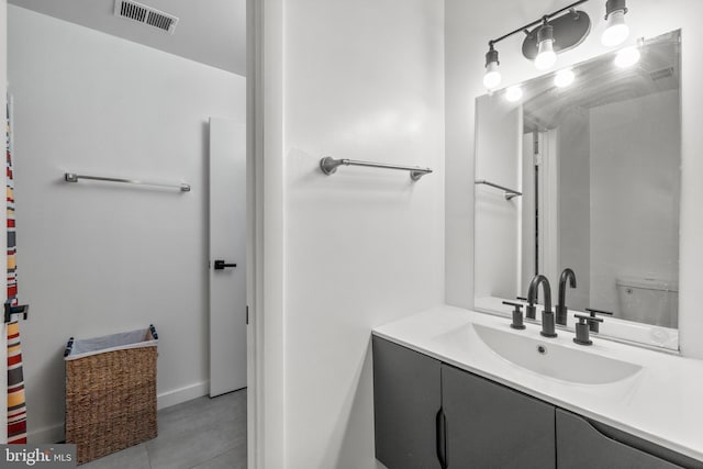
[[[618,277],[679,280],[679,90],[591,109],[591,299],[616,316]]]

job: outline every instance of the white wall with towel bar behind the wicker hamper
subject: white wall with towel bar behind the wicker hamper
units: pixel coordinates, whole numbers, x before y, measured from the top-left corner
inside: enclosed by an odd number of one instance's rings
[[[159,405],[205,393],[208,119],[244,122],[245,79],[18,7],[9,14],[29,428],[55,440],[69,336],[154,323]],[[65,171],[192,191],[68,185]]]

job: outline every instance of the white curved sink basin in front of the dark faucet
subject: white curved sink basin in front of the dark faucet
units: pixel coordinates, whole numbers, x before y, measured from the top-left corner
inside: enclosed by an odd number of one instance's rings
[[[494,327],[473,324],[481,340],[504,359],[531,371],[582,384],[606,384],[629,378],[641,366],[522,336]]]

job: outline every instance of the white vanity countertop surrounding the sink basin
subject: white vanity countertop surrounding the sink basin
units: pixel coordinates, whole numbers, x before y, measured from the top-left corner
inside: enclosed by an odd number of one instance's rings
[[[503,359],[470,327],[471,323],[534,337],[643,366],[636,375],[606,384],[580,384],[545,377]],[[703,361],[592,336],[573,343],[573,333],[539,336],[540,326],[509,327],[510,319],[438,305],[373,330],[373,335],[489,378],[559,407],[591,417],[703,461]],[[468,327],[467,327],[468,326]],[[578,367],[579,364],[573,364]]]

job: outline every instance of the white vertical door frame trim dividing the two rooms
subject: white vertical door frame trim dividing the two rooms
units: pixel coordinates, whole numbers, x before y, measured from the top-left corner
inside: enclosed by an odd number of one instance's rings
[[[284,468],[283,0],[247,0],[247,467]]]

